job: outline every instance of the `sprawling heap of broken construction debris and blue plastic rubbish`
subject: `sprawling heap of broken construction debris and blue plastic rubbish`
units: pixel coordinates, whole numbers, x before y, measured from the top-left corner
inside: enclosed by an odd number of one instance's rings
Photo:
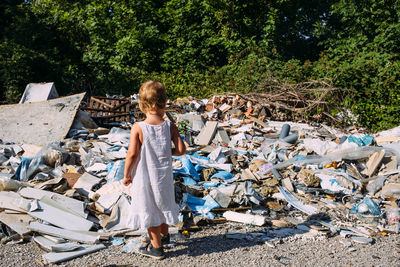
[[[399,232],[400,127],[371,135],[272,121],[266,105],[237,96],[178,99],[167,110],[188,150],[173,157],[181,213],[172,233],[232,221],[264,228],[226,233],[231,239],[274,246],[340,235],[351,246]],[[132,251],[144,233],[127,226],[134,203],[121,184],[130,131],[72,128],[68,136],[0,142],[1,242],[32,240],[49,263],[108,245]]]

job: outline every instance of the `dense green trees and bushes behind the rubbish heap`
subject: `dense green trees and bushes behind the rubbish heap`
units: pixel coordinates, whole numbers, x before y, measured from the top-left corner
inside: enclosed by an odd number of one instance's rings
[[[0,101],[29,82],[127,96],[157,79],[176,98],[324,80],[343,89],[332,113],[387,129],[400,124],[399,16],[395,0],[3,0]]]

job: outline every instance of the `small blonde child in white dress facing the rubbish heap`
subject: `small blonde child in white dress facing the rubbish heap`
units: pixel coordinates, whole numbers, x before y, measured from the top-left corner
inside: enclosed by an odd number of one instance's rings
[[[163,119],[166,101],[163,84],[147,81],[140,87],[139,108],[146,119],[132,126],[122,180],[124,185],[132,183],[130,224],[147,229],[150,237],[138,252],[155,259],[165,258],[161,240],[169,240],[168,225],[178,223],[172,155],[186,152],[176,125]]]

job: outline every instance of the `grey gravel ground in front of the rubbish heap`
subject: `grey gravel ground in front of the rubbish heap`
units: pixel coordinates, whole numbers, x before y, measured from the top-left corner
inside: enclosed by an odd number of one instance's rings
[[[190,238],[176,240],[162,261],[126,253],[121,246],[81,256],[58,266],[400,266],[399,235],[374,237],[373,244],[344,246],[340,236],[271,240],[227,239],[229,232],[256,232],[262,228],[239,224],[204,227]],[[347,239],[350,240],[350,239]],[[41,266],[45,252],[34,243],[0,245],[0,266]],[[52,265],[50,265],[52,266]],[[53,265],[55,266],[55,265]]]

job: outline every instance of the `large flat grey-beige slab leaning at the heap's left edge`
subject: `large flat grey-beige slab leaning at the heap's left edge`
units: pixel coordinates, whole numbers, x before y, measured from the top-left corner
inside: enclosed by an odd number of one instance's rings
[[[84,95],[0,106],[0,139],[35,145],[64,139]]]

